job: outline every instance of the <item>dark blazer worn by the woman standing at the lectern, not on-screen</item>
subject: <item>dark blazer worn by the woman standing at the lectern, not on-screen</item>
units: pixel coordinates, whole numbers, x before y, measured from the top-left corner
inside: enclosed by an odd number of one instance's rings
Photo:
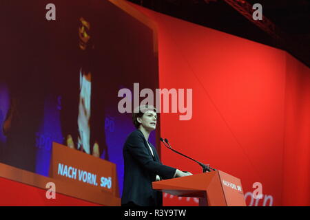
[[[152,147],[154,157],[149,146]],[[121,203],[130,201],[138,206],[162,206],[163,194],[152,189],[156,175],[163,179],[174,177],[176,168],[161,163],[156,148],[147,141],[140,130],[133,131],[127,137],[123,148],[124,185]]]

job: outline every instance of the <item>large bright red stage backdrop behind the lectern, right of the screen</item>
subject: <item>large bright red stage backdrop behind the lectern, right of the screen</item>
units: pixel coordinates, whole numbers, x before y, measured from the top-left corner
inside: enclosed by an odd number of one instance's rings
[[[161,136],[240,178],[247,206],[309,206],[309,68],[285,51],[134,7],[158,29],[160,88],[193,89],[192,120],[161,113]],[[164,146],[161,158],[202,172]],[[255,182],[262,199],[251,195]],[[198,205],[164,197],[165,206]]]

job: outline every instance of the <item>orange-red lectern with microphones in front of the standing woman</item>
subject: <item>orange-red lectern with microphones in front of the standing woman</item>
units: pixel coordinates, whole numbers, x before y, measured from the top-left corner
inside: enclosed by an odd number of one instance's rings
[[[152,183],[154,190],[198,197],[199,206],[246,206],[240,179],[216,170]]]

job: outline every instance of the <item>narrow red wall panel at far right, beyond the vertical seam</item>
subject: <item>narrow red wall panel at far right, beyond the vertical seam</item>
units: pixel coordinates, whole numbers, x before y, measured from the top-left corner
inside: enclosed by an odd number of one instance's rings
[[[310,71],[287,54],[283,206],[310,206]]]

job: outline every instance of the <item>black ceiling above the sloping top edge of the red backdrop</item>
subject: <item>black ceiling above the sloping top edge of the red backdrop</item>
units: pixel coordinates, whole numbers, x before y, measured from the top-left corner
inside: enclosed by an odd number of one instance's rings
[[[128,1],[178,19],[287,50],[310,66],[309,0],[245,0],[251,5],[262,5],[262,14],[280,30],[277,34],[283,41],[258,28],[224,0]]]

